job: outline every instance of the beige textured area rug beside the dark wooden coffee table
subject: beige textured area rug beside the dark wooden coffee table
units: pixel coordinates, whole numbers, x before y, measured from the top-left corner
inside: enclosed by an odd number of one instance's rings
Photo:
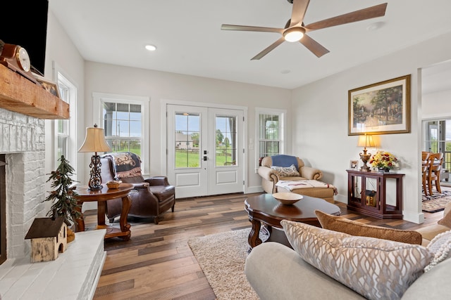
[[[249,232],[250,228],[188,240],[218,300],[259,299],[245,275]]]

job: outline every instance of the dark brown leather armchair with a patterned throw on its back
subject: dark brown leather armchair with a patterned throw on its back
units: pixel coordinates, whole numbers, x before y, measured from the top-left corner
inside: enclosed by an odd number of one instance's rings
[[[126,159],[123,159],[127,157]],[[117,160],[115,162],[115,159]],[[124,161],[133,164],[133,169],[128,171],[120,170]],[[132,183],[133,190],[130,191],[132,207],[128,216],[140,218],[154,217],[154,223],[159,223],[159,218],[168,209],[174,212],[175,207],[175,187],[168,183],[166,176],[154,176],[146,178],[141,174],[140,158],[131,152],[110,153],[101,156],[101,181],[106,183],[112,180],[120,180],[123,183]],[[119,163],[117,163],[119,162]],[[109,200],[106,202],[106,216],[112,223],[116,216],[121,215],[121,199]]]

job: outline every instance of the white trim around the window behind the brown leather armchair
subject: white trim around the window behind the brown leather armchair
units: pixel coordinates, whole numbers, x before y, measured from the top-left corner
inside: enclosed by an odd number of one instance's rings
[[[99,127],[101,127],[102,122],[102,102],[108,102],[109,100],[113,102],[122,102],[122,103],[128,103],[128,104],[136,104],[136,105],[142,105],[142,140],[143,143],[141,144],[141,160],[142,160],[142,174],[148,175],[146,172],[150,170],[150,156],[149,156],[149,103],[150,98],[146,96],[130,96],[130,95],[118,95],[118,94],[112,94],[112,93],[92,93],[93,101],[93,118],[94,118],[94,124],[98,124]],[[90,126],[94,126],[94,124]],[[103,126],[103,125],[102,125]],[[103,127],[102,127],[103,128]]]

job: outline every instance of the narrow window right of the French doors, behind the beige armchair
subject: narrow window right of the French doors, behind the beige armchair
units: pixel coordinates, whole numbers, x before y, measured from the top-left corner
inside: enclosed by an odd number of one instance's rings
[[[257,108],[256,112],[259,139],[257,157],[283,154],[285,111]]]

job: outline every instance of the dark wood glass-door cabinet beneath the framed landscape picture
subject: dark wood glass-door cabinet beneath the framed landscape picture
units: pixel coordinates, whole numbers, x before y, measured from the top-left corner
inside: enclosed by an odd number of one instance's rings
[[[374,216],[379,219],[402,219],[402,177],[404,174],[352,169],[346,171],[348,190],[347,207],[349,209],[354,209],[362,214]],[[358,183],[357,178],[360,178],[360,183]],[[375,190],[369,188],[367,184],[368,178],[373,178],[376,181]],[[387,179],[394,179],[396,181],[395,205],[386,203]]]

